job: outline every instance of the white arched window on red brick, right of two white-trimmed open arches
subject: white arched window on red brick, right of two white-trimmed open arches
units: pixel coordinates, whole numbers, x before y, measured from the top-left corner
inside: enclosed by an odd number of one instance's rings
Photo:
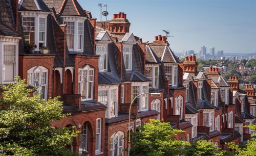
[[[93,99],[94,68],[86,65],[78,69],[78,94],[81,100]]]

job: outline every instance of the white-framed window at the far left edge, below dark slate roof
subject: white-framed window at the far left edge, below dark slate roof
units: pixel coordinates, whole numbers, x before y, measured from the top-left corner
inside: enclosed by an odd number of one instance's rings
[[[10,54],[10,49],[6,49],[6,48],[10,48],[10,47],[14,47],[14,50],[12,51],[12,53],[14,54]],[[1,79],[1,84],[10,84],[10,83],[14,83],[14,78],[16,75],[18,75],[18,44],[11,44],[11,43],[2,43],[0,42],[0,50],[3,51],[2,53],[0,52],[0,79]],[[6,81],[5,77],[6,77],[6,72],[10,72],[8,69],[6,69],[6,64],[11,64],[13,67],[13,71],[12,71],[12,81]],[[7,73],[7,75],[10,75],[10,73]]]

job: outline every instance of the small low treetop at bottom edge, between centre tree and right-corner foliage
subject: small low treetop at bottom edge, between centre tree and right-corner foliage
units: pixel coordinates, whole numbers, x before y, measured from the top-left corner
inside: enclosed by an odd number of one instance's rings
[[[192,142],[190,146],[185,146],[186,155],[223,155],[223,151],[220,150],[218,145],[214,142],[207,142],[205,140],[199,140]]]

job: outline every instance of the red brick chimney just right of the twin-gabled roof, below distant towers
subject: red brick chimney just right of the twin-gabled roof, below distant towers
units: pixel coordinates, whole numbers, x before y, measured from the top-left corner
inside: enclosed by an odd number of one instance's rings
[[[184,72],[198,74],[197,71],[198,63],[196,61],[196,55],[190,55],[189,57],[185,57],[185,61],[183,62],[183,70]]]

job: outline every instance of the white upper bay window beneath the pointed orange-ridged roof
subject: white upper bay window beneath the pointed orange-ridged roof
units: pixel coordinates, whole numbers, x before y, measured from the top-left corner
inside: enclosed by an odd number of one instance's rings
[[[69,51],[83,52],[83,22],[84,17],[63,16],[63,23],[67,25],[66,41]]]

